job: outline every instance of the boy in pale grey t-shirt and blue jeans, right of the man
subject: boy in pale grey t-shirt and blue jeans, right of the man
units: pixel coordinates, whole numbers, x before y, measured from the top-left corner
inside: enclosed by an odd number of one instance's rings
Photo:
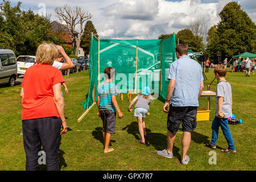
[[[221,127],[222,133],[226,138],[229,147],[221,150],[221,152],[236,154],[234,141],[228,125],[228,118],[232,117],[232,89],[228,81],[226,81],[226,67],[218,65],[214,69],[214,76],[220,81],[216,88],[216,116],[212,122],[212,142],[205,146],[216,149],[216,141],[218,139],[218,129]]]

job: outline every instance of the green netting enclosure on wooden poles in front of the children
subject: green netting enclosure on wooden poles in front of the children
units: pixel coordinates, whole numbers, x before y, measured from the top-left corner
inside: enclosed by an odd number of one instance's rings
[[[105,80],[104,69],[115,69],[114,84],[120,93],[141,93],[149,86],[151,95],[166,98],[168,72],[176,60],[175,34],[166,39],[97,39],[91,35],[89,55],[90,87],[84,109],[97,102],[97,88]]]

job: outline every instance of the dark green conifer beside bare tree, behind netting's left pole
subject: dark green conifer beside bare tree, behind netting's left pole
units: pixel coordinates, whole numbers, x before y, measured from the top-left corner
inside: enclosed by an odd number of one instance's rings
[[[85,23],[84,32],[81,36],[81,48],[84,49],[85,55],[88,55],[90,52],[90,32],[93,32],[93,35],[98,38],[98,33],[93,22],[88,20]]]

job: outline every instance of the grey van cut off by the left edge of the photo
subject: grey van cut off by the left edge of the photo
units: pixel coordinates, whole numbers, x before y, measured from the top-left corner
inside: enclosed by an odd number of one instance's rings
[[[17,77],[17,63],[13,51],[0,49],[0,84],[14,86]]]

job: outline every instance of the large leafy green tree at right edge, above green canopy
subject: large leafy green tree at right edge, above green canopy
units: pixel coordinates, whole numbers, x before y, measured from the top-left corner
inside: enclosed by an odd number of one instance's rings
[[[241,6],[230,2],[219,15],[221,20],[217,24],[217,32],[208,34],[207,52],[222,58],[245,51],[256,53],[256,25]]]

